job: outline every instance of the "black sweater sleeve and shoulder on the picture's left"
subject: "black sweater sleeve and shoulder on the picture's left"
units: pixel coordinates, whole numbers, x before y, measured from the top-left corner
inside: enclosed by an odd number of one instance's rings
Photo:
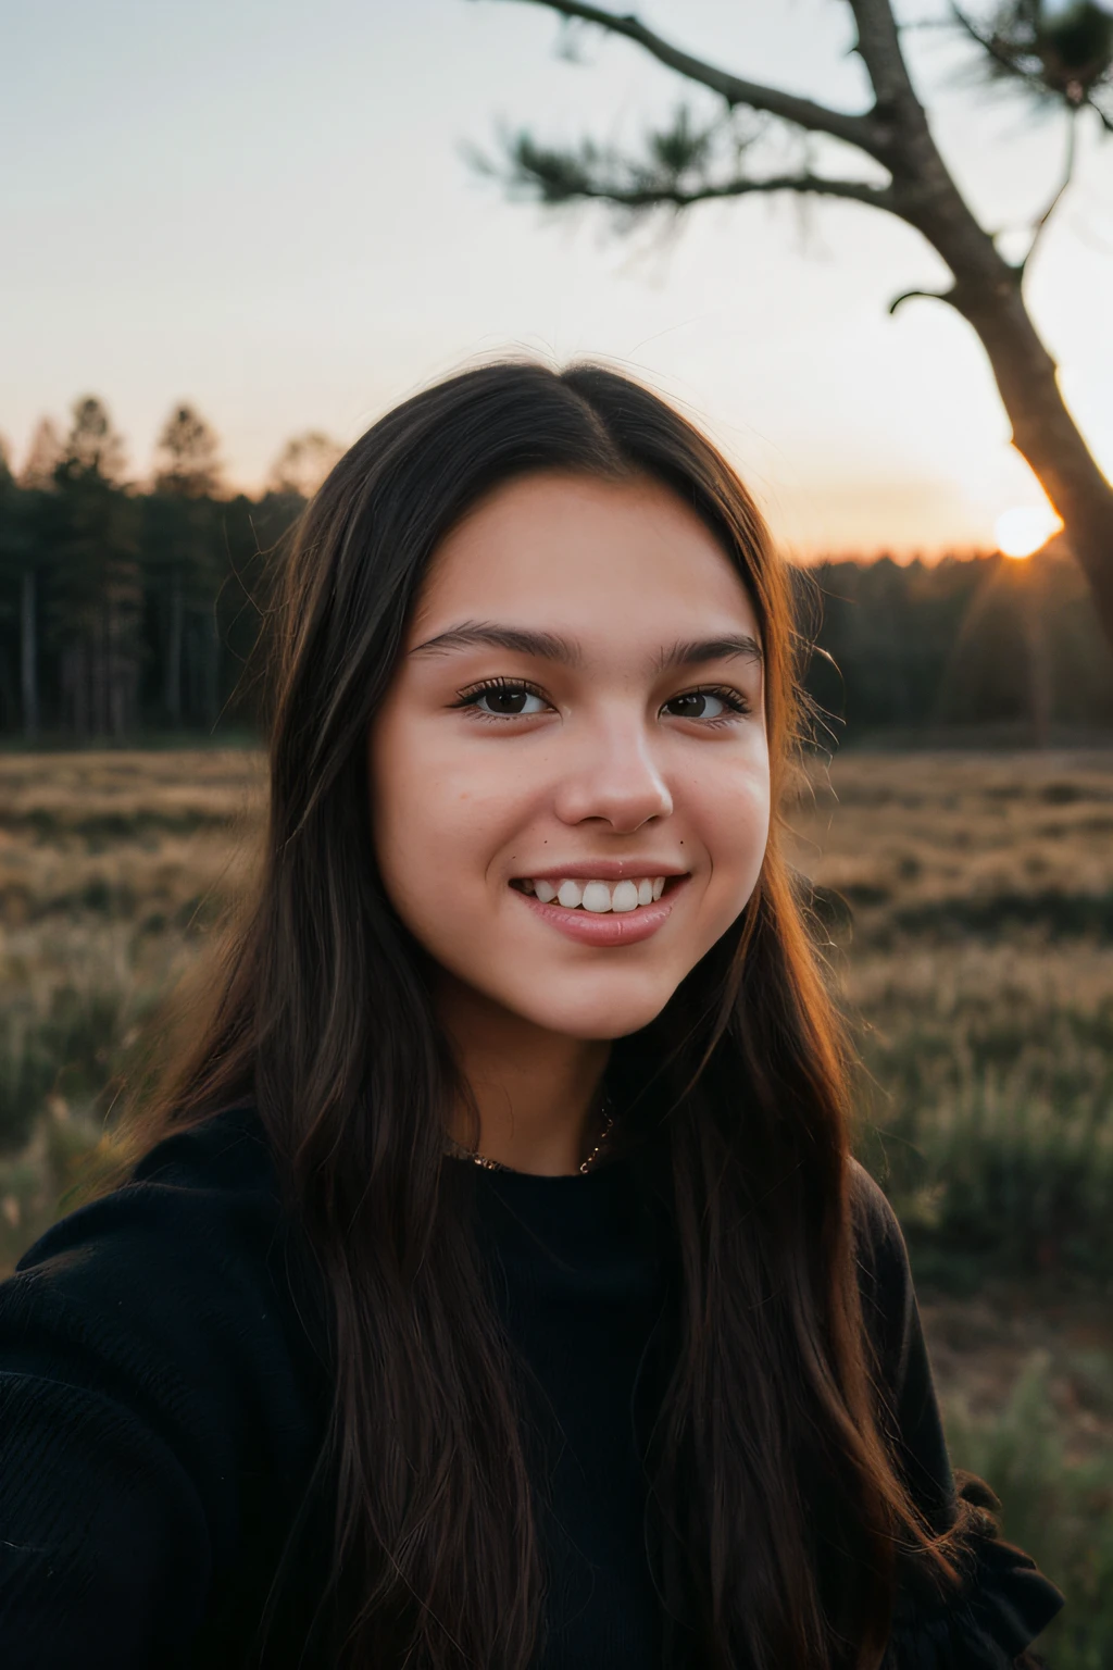
[[[159,1144],[0,1286],[0,1663],[154,1670],[265,1541],[304,1409],[242,1129]]]

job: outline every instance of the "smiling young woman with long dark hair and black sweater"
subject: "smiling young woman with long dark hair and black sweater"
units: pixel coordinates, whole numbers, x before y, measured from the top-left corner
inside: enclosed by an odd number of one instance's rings
[[[297,531],[259,897],[122,1186],[0,1289],[0,1662],[993,1670],[776,807],[786,576],[596,367]]]

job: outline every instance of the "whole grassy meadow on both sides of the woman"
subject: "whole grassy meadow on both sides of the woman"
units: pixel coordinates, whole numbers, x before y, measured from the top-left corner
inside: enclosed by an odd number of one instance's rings
[[[0,1269],[250,862],[250,752],[0,755]],[[1113,753],[848,753],[788,808],[956,1461],[1113,1662]],[[105,1136],[108,1132],[108,1136]]]

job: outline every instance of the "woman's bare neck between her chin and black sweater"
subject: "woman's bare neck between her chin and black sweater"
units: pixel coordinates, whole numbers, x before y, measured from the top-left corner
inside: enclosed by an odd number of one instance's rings
[[[449,1134],[512,1171],[556,1177],[579,1171],[602,1131],[609,1039],[572,1039],[514,1015],[444,975],[437,1012],[471,1087]]]

